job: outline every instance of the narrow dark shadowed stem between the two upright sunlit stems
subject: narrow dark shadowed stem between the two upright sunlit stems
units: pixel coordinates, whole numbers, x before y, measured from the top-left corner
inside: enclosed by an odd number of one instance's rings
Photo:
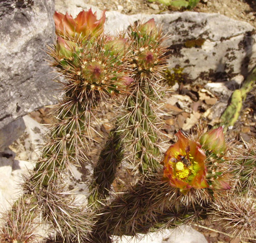
[[[117,167],[124,156],[121,132],[110,131],[108,141],[100,152],[99,160],[93,170],[93,179],[90,185],[91,195],[89,204],[106,200],[111,191],[111,184],[115,180]]]

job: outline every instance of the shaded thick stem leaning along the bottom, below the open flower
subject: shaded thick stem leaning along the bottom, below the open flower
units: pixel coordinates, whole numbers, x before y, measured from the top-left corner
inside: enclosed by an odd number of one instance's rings
[[[106,235],[135,236],[205,217],[204,192],[197,195],[191,190],[188,195],[182,195],[178,189],[163,182],[162,177],[163,171],[147,176],[99,209],[98,221],[93,227],[97,242],[104,242]],[[194,196],[194,201],[187,204],[190,196]]]

